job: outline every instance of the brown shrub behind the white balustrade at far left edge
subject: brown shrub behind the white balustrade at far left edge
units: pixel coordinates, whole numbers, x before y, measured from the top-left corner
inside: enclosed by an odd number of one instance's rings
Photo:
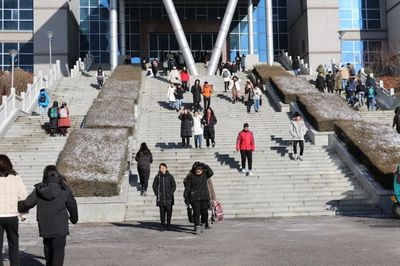
[[[28,83],[33,82],[32,73],[26,72],[20,68],[14,70],[14,87],[17,95],[21,95],[21,92],[26,92]],[[4,71],[0,73],[0,96],[10,95],[11,88],[11,72]],[[0,97],[0,104],[1,99]]]

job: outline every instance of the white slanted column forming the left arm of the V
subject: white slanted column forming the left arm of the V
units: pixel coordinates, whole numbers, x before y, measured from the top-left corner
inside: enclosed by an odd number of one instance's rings
[[[176,39],[178,40],[179,47],[182,50],[186,66],[190,71],[190,74],[197,76],[198,73],[194,63],[193,55],[186,40],[185,32],[183,31],[178,13],[176,13],[174,3],[172,0],[163,0],[163,2],[165,9],[167,10],[169,20],[171,21],[172,28],[174,29]]]

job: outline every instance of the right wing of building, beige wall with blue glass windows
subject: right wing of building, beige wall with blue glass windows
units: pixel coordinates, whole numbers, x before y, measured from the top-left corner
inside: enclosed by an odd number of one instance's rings
[[[400,47],[399,12],[399,0],[296,1],[288,7],[289,53],[312,70],[332,61],[368,67]]]

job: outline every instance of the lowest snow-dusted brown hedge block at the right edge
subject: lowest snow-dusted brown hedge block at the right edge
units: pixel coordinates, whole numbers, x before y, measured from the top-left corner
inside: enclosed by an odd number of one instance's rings
[[[338,122],[335,133],[383,188],[393,189],[393,175],[400,163],[400,134],[389,126],[363,121]]]

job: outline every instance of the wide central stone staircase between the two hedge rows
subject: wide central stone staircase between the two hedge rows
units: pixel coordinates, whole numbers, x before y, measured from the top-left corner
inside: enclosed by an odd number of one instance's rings
[[[369,196],[329,147],[306,142],[304,161],[290,160],[288,113],[275,112],[264,98],[260,113],[252,110],[251,114],[247,114],[243,104],[232,104],[230,93],[223,93],[221,77],[201,75],[196,78],[202,83],[208,81],[214,84],[216,92],[211,106],[218,120],[216,147],[181,148],[179,113],[165,107],[168,85],[160,79],[146,78],[141,95],[137,146],[147,142],[154,162],[148,196],[140,196],[136,179],[130,182],[126,220],[159,219],[151,185],[162,162],[168,165],[177,183],[174,219],[186,219],[182,181],[195,161],[205,162],[213,169],[214,188],[226,218],[375,215],[379,212],[371,206]],[[243,75],[240,78],[242,82],[246,79]],[[192,103],[191,93],[185,94],[184,103]],[[253,176],[245,176],[238,171],[240,153],[236,152],[235,143],[245,122],[250,124],[256,143]],[[136,165],[133,171],[136,173]]]

